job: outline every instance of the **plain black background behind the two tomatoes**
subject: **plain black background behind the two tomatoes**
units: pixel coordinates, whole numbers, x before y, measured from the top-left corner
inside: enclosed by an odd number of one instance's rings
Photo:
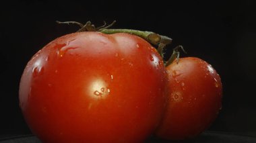
[[[113,28],[169,36],[220,74],[223,107],[209,130],[256,136],[256,3],[243,1],[1,1],[0,135],[29,134],[18,103],[20,77],[40,48],[78,27],[59,21],[117,20]]]

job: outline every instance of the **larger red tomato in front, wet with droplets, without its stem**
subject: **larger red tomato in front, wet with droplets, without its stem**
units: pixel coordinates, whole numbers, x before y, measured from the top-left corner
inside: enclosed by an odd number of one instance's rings
[[[20,107],[42,142],[143,142],[164,113],[167,81],[142,38],[78,32],[28,62]]]

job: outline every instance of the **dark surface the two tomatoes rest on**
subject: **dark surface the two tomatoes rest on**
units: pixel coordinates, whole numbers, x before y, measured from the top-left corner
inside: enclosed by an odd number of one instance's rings
[[[254,143],[255,137],[228,134],[224,132],[203,132],[193,140],[169,141],[150,138],[146,143]],[[40,143],[33,135],[9,136],[0,138],[0,143]]]

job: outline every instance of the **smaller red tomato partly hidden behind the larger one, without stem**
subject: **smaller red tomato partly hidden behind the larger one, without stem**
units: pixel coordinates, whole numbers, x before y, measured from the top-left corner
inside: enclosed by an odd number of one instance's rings
[[[170,99],[156,134],[168,140],[194,138],[214,122],[222,107],[220,76],[194,57],[174,60],[166,68]]]

